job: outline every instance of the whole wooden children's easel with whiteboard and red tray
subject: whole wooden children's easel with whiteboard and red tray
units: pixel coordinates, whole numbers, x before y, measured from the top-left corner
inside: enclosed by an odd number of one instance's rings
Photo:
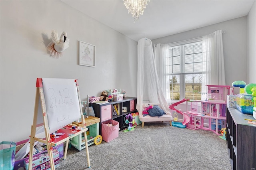
[[[82,130],[77,130],[76,132],[73,131],[74,133],[72,133],[70,136],[69,134],[65,134],[61,138],[50,138],[50,134],[52,132],[55,132],[61,128],[66,128],[67,132],[69,132],[68,125],[80,118],[82,125],[84,125]],[[44,128],[44,134],[37,134],[36,128],[42,125]],[[79,85],[77,80],[37,78],[34,119],[33,125],[31,126],[30,136],[28,169],[32,170],[33,148],[35,141],[46,144],[48,155],[50,157],[51,169],[55,170],[52,147],[66,142],[64,153],[65,159],[69,139],[81,133],[84,133],[88,168],[90,168],[90,158],[86,136],[87,130],[88,128],[85,127],[84,115],[82,113]],[[42,135],[44,136],[43,138]]]

